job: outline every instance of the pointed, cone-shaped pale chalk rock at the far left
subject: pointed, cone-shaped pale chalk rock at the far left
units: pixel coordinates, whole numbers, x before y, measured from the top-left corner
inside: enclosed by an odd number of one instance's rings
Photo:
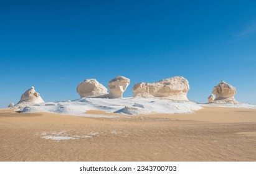
[[[34,86],[32,86],[31,89],[28,89],[24,94],[22,94],[21,100],[16,104],[16,106],[24,108],[25,106],[36,103],[44,103],[44,100],[40,97],[40,94],[36,92]]]

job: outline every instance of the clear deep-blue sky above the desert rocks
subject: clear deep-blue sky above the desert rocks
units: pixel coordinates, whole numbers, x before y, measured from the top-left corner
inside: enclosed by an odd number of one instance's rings
[[[0,108],[35,86],[45,101],[78,99],[80,81],[107,86],[171,76],[206,103],[220,80],[256,104],[256,1],[0,0]]]

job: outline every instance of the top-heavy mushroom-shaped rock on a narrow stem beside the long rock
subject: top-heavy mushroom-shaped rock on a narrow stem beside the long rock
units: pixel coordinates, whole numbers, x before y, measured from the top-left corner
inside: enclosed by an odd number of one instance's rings
[[[124,76],[117,76],[113,78],[108,83],[108,88],[110,88],[110,93],[108,98],[122,98],[125,89],[130,85],[130,79]]]

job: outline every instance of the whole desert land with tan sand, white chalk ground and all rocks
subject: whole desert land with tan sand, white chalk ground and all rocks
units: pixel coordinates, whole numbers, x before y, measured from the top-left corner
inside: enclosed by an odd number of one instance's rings
[[[209,103],[189,101],[175,76],[138,83],[116,76],[77,86],[80,99],[44,102],[32,87],[0,109],[1,161],[255,161],[256,106],[221,81]],[[19,112],[17,112],[19,111]]]

